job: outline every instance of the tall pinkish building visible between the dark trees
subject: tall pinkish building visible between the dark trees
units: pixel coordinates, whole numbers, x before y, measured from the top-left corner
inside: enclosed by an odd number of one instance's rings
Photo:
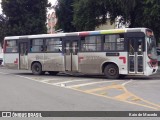
[[[55,26],[57,23],[57,18],[55,11],[49,11],[47,15],[47,33],[54,34],[55,33]]]

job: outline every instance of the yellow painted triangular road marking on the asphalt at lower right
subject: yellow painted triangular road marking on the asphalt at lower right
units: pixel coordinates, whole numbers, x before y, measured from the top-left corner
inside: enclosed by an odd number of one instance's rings
[[[87,94],[92,94],[92,95],[96,95],[96,96],[101,96],[101,97],[105,97],[105,98],[109,98],[109,99],[113,99],[113,100],[117,100],[117,101],[122,101],[122,102],[126,102],[126,103],[130,103],[130,104],[135,104],[138,106],[143,106],[143,107],[147,107],[147,108],[151,108],[151,109],[155,109],[155,110],[160,110],[160,105],[149,102],[147,100],[144,100],[141,97],[138,97],[136,95],[134,95],[133,93],[129,92],[126,88],[125,85],[129,84],[130,81],[127,81],[123,84],[113,84],[110,86],[105,86],[105,87],[101,87],[101,88],[94,88],[94,89],[89,89],[89,90],[80,90],[80,89],[76,89],[74,87],[70,88],[73,90],[77,90],[83,93],[87,93]],[[103,91],[103,90],[108,90],[108,89],[118,89],[118,90],[122,90],[124,91],[124,93],[117,95],[117,96],[107,96],[106,94],[98,94],[95,93],[97,91]],[[129,98],[132,98],[131,100],[129,100]],[[143,102],[143,103],[138,103],[139,101]]]

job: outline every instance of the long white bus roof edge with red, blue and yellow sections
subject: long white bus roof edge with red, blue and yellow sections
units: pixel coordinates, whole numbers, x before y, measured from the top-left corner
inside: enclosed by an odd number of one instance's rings
[[[147,28],[124,28],[124,29],[110,29],[110,30],[99,30],[99,31],[70,32],[70,33],[7,36],[4,39],[15,40],[15,39],[34,39],[34,38],[65,37],[65,36],[88,36],[88,35],[115,34],[115,33],[125,33],[125,32],[144,32],[146,29]]]

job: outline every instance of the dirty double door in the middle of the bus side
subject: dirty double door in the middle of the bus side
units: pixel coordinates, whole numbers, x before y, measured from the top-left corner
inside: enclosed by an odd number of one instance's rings
[[[78,41],[65,41],[65,70],[78,71]]]

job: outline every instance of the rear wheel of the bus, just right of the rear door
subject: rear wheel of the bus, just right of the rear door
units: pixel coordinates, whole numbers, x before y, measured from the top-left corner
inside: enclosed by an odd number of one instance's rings
[[[32,73],[34,75],[44,74],[44,72],[42,71],[42,65],[39,62],[35,62],[32,64]]]

